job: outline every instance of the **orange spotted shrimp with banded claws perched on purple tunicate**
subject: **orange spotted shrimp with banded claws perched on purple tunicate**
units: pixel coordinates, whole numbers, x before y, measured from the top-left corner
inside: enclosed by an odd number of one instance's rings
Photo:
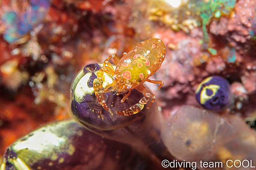
[[[126,112],[128,110],[129,115],[138,113],[138,111],[143,109],[144,104],[148,103],[149,97],[151,96],[153,99],[148,106],[149,108],[153,104],[155,96],[147,88],[145,88],[143,83],[147,81],[154,84],[160,84],[158,89],[162,87],[164,82],[149,80],[148,78],[160,68],[162,62],[164,61],[165,54],[166,48],[163,41],[152,38],[142,41],[127,54],[124,53],[124,56],[119,61],[115,55],[110,55],[104,61],[102,68],[100,68],[100,70],[97,72],[97,79],[94,80],[94,92],[100,104],[102,104],[105,109],[110,111],[109,107],[106,106],[103,93],[114,91],[117,95],[119,95],[123,92],[128,92],[128,94],[126,94],[121,100],[121,102],[124,102],[130,95],[131,90],[137,89],[144,94],[144,98],[141,99],[143,102],[140,100],[141,103],[139,102],[136,104],[136,109],[134,109],[136,111],[131,111],[132,107],[130,107],[125,111],[121,111],[122,113],[117,113],[127,115]],[[114,59],[116,69],[114,69],[113,66],[108,62],[111,58]],[[103,89],[102,85],[100,84],[102,84],[104,72],[112,75],[113,82]]]

